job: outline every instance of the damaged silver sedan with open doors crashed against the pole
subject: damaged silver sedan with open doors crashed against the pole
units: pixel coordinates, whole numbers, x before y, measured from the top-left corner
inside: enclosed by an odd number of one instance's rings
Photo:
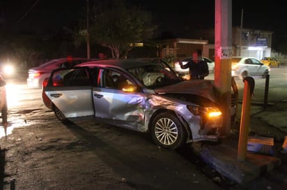
[[[222,112],[213,80],[183,80],[164,63],[98,60],[56,69],[43,101],[62,122],[96,121],[150,132],[155,144],[178,148],[217,141]]]

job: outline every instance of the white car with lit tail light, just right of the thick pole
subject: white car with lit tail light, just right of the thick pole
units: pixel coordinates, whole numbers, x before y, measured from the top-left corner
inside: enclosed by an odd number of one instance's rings
[[[245,78],[247,76],[262,76],[269,74],[270,67],[260,60],[250,57],[233,57],[231,60],[231,75]]]

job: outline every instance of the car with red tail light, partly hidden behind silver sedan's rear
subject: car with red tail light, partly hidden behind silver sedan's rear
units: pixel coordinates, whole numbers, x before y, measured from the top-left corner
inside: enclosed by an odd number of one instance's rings
[[[40,88],[42,87],[43,80],[50,76],[53,69],[73,67],[75,64],[91,60],[94,59],[67,57],[50,60],[40,64],[40,66],[28,70],[27,86],[31,88]]]

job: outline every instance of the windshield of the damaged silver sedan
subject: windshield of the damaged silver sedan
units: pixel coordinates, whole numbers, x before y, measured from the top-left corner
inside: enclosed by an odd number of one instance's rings
[[[141,67],[127,69],[143,86],[154,89],[173,85],[182,81],[170,68],[163,67],[162,64],[148,64]]]

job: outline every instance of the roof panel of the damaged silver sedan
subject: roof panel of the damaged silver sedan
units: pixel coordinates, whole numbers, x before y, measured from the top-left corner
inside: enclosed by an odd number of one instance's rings
[[[145,61],[139,61],[139,60],[96,60],[91,62],[84,62],[75,65],[76,67],[118,67],[123,69],[129,69],[132,67],[141,67],[144,65],[156,65],[158,63],[154,62],[145,62]]]

